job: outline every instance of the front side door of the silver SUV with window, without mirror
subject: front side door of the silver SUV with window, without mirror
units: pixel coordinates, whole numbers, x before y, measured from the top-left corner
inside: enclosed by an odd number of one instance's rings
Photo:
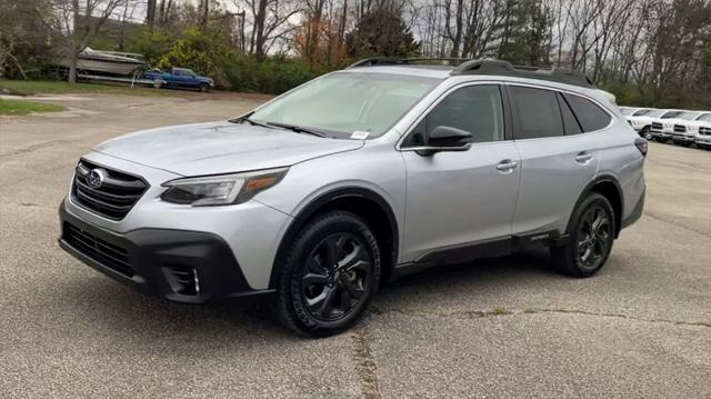
[[[467,260],[479,243],[511,237],[519,153],[504,134],[501,90],[450,90],[400,144],[408,179],[403,261]],[[473,146],[430,156],[409,149],[427,146],[438,126],[471,132]]]

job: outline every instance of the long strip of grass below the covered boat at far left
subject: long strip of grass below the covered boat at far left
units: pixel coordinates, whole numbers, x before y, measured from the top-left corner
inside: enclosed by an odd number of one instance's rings
[[[126,94],[170,97],[171,92],[158,90],[142,86],[113,84],[113,83],[74,83],[50,80],[0,80],[0,91],[11,94],[33,96],[33,94],[62,94],[62,93],[96,93],[96,94]],[[174,94],[174,93],[173,93]]]

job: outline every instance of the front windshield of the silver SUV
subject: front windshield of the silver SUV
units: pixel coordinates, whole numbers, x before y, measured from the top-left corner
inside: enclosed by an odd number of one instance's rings
[[[250,119],[310,128],[337,138],[373,138],[388,131],[440,81],[385,73],[337,72],[266,104]]]

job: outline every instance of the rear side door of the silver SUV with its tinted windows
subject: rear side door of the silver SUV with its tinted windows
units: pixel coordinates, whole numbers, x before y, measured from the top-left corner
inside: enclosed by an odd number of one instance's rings
[[[578,196],[598,169],[600,138],[584,133],[584,127],[592,131],[602,120],[589,109],[592,102],[582,97],[515,84],[509,84],[508,92],[521,156],[513,233],[562,232]],[[580,109],[579,114],[573,107]],[[607,126],[610,119],[604,116]]]

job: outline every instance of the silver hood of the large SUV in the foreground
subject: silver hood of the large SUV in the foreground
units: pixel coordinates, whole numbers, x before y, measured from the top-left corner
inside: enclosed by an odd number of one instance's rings
[[[202,176],[288,167],[362,146],[362,140],[221,121],[139,131],[93,150],[182,176]]]

